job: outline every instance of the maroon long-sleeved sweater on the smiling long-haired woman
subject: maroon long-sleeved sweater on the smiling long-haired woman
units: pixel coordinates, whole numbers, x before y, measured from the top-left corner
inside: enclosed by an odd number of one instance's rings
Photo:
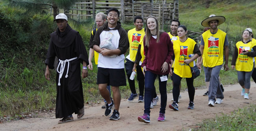
[[[144,36],[143,40],[145,59],[141,67],[146,66],[147,71],[151,71],[157,75],[167,75],[171,69],[169,63],[171,63],[173,56],[173,42],[171,42],[170,36],[165,32],[161,33],[159,43],[156,43],[156,39],[151,36],[149,47],[145,45],[145,39],[146,36]],[[167,62],[168,70],[162,73],[161,66],[164,62]]]

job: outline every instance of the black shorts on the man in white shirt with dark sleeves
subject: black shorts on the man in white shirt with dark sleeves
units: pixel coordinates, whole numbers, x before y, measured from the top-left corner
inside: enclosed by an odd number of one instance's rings
[[[110,86],[126,86],[124,69],[110,69],[98,67],[97,84]]]

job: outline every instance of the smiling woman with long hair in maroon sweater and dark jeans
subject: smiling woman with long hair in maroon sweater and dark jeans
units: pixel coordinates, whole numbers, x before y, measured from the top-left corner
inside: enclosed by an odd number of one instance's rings
[[[165,107],[167,102],[166,83],[170,72],[169,63],[173,56],[173,43],[169,35],[159,30],[158,21],[154,16],[146,20],[146,32],[143,38],[145,60],[141,67],[145,73],[144,114],[138,116],[140,122],[150,123],[150,104],[152,95],[156,90],[154,82],[158,76],[159,91],[161,95],[161,108],[158,121],[165,120]]]

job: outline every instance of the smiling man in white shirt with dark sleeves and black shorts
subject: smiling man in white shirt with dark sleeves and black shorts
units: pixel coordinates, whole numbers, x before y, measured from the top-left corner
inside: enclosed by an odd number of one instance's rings
[[[121,94],[119,86],[126,86],[126,77],[124,72],[124,53],[126,52],[128,42],[126,31],[121,27],[119,20],[119,11],[111,8],[107,12],[108,22],[98,28],[93,40],[93,49],[99,53],[97,84],[100,95],[107,101],[105,116],[111,115],[112,107],[115,109],[110,120],[118,120]],[[108,40],[115,49],[100,48]],[[113,100],[109,96],[107,85],[110,85],[113,91]]]

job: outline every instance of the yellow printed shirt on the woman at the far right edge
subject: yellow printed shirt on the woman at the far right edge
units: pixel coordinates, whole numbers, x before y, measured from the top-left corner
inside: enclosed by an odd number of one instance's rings
[[[237,71],[247,71],[250,72],[253,69],[253,58],[243,54],[243,50],[245,50],[246,47],[249,47],[249,50],[251,51],[252,47],[254,47],[255,44],[252,42],[249,42],[247,44],[244,44],[243,42],[239,41],[236,43],[236,47],[238,50],[238,56],[236,59],[236,70]]]

